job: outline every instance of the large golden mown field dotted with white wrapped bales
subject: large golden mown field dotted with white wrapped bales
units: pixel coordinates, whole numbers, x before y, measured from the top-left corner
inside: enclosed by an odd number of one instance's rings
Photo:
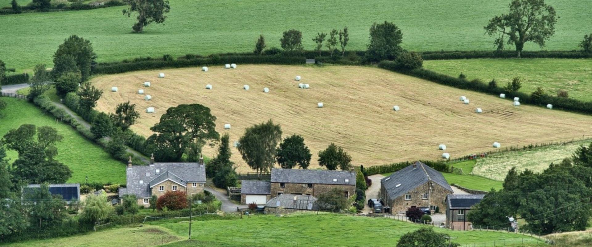
[[[157,78],[164,72],[165,78]],[[301,75],[310,89],[298,88]],[[150,81],[152,86],[144,87]],[[98,76],[91,80],[104,94],[96,109],[111,112],[120,102],[131,101],[141,112],[132,130],[150,136],[150,127],[169,107],[199,103],[217,117],[217,131],[230,133],[233,143],[246,127],[270,118],[281,124],[284,136],[300,134],[313,153],[311,168],[318,167],[317,153],[334,142],[343,146],[354,165],[451,158],[502,147],[592,137],[592,117],[522,105],[491,95],[450,88],[388,70],[355,66],[239,65],[237,69],[211,67],[146,70]],[[213,89],[205,89],[206,84]],[[245,91],[243,85],[250,85]],[[118,92],[110,92],[118,86]],[[269,93],[262,91],[271,89]],[[144,95],[152,95],[145,101]],[[459,101],[464,95],[471,104]],[[323,102],[323,108],[317,108]],[[393,111],[393,105],[400,111]],[[145,113],[155,107],[153,114]],[[480,107],[483,113],[475,113]],[[224,130],[226,123],[230,130]],[[214,148],[204,147],[213,156]],[[236,148],[238,171],[249,171]]]

